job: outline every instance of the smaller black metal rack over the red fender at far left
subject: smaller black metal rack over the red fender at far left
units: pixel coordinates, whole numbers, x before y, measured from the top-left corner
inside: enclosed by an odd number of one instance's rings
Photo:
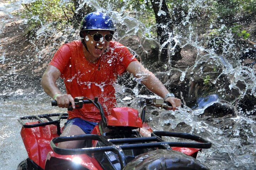
[[[58,117],[56,120],[53,120],[51,117]],[[52,114],[41,114],[41,115],[33,115],[33,116],[25,116],[18,119],[18,122],[24,128],[35,128],[39,126],[46,125],[56,125],[57,126],[57,134],[60,135],[60,120],[67,119],[68,113],[52,113]],[[43,119],[47,119],[48,121],[44,121]],[[38,120],[39,123],[31,124],[30,122],[24,122],[24,120]]]

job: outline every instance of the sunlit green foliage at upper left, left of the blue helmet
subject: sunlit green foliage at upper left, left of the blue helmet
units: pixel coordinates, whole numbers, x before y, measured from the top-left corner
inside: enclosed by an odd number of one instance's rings
[[[28,19],[26,33],[35,31],[41,25],[56,22],[64,25],[72,22],[73,3],[63,3],[61,0],[36,0],[29,4],[22,4],[24,7],[20,13],[22,18]]]

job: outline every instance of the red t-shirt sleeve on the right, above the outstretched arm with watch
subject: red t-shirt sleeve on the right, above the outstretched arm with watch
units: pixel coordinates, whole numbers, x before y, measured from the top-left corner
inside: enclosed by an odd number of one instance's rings
[[[137,61],[134,55],[130,53],[127,47],[118,43],[118,47],[116,48],[118,53],[118,65],[117,65],[117,73],[123,74],[126,71],[126,68],[132,61]]]

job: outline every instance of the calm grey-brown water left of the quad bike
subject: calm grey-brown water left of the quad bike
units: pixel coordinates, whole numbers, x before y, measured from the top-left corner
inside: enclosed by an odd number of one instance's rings
[[[15,170],[27,158],[20,136],[21,125],[17,121],[19,117],[61,112],[65,112],[65,109],[50,106],[50,100],[47,99],[0,102],[0,169]]]

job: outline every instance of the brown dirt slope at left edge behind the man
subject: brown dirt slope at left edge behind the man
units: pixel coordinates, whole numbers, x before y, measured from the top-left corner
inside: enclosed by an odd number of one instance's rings
[[[40,81],[53,54],[38,57],[39,40],[25,35],[27,25],[18,16],[0,11],[0,27],[0,101],[45,95]]]

